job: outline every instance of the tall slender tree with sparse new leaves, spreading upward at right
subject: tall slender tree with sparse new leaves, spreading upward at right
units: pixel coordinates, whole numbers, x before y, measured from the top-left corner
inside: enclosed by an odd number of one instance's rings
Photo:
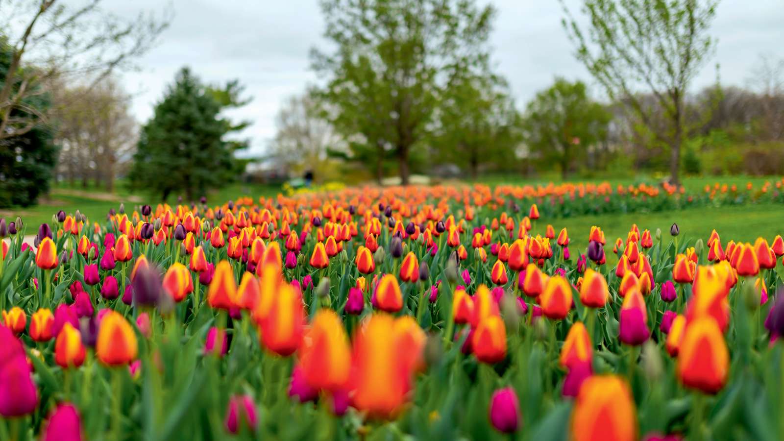
[[[560,1],[577,59],[611,99],[626,104],[655,140],[670,146],[670,179],[677,183],[681,145],[689,131],[685,98],[713,51],[715,42],[707,32],[718,0],[584,0],[587,32]],[[663,109],[663,131],[654,127],[651,108],[637,97],[638,87],[652,93]]]

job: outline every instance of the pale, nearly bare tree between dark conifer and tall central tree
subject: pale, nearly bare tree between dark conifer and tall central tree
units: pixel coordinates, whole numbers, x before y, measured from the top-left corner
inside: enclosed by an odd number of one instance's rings
[[[289,97],[275,116],[278,133],[270,144],[275,159],[289,171],[312,171],[316,179],[328,173],[328,151],[343,150],[343,141],[321,116],[310,93]]]

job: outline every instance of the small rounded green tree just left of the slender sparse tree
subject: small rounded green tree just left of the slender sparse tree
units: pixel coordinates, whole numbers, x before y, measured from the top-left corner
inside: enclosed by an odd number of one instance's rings
[[[556,162],[565,179],[575,159],[588,146],[607,137],[611,119],[604,106],[590,100],[585,83],[556,78],[553,86],[537,93],[528,103],[524,138],[543,159]]]

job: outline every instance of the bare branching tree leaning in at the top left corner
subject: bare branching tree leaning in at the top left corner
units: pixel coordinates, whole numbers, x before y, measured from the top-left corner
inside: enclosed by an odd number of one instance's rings
[[[129,20],[104,12],[100,3],[0,2],[0,44],[12,54],[8,72],[0,78],[0,140],[48,121],[48,111],[29,100],[46,92],[36,85],[60,77],[94,86],[115,69],[130,67],[167,27],[167,17],[139,13]],[[16,116],[20,114],[24,116]]]

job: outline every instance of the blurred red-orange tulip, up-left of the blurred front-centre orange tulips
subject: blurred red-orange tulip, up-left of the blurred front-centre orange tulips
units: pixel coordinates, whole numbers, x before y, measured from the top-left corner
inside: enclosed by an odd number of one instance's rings
[[[302,294],[288,283],[281,284],[269,312],[261,320],[261,342],[270,352],[292,355],[302,341],[304,320]]]

